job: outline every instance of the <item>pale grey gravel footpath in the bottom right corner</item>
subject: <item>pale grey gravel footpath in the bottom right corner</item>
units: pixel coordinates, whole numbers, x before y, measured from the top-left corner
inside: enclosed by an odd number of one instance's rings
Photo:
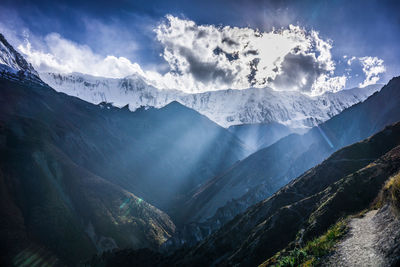
[[[362,218],[352,219],[350,231],[341,241],[324,266],[386,266],[385,258],[375,244],[379,240],[379,230],[373,220],[376,210],[370,211]]]

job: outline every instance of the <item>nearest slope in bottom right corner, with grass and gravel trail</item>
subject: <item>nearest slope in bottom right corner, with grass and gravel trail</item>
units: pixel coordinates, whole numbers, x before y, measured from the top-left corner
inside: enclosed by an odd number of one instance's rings
[[[367,167],[373,167],[373,164]],[[356,196],[357,197],[357,196]],[[399,266],[400,172],[389,177],[372,205],[344,215],[325,234],[302,241],[302,233],[285,250],[261,266]]]

